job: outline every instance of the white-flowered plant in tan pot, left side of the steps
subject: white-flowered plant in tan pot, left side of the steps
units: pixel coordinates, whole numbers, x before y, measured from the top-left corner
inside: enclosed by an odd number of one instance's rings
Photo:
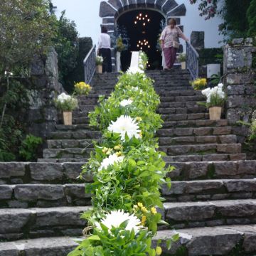
[[[58,110],[63,112],[63,122],[65,125],[72,125],[72,111],[78,107],[78,100],[70,95],[66,95],[65,92],[58,95],[55,100]]]

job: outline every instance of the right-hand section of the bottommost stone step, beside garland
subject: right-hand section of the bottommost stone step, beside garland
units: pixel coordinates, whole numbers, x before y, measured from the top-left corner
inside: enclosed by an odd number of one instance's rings
[[[166,240],[176,233],[180,238],[168,250]],[[162,230],[154,238],[155,241],[159,239],[162,240],[161,247],[164,255],[245,256],[256,253],[256,225],[223,225],[210,228]]]

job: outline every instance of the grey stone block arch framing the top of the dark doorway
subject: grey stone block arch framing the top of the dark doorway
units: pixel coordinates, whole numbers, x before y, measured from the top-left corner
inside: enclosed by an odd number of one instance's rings
[[[102,18],[102,26],[106,26],[108,33],[114,32],[117,24],[117,18],[124,12],[137,9],[151,9],[159,11],[166,21],[169,18],[176,18],[178,25],[181,26],[181,16],[186,15],[185,4],[178,5],[175,0],[108,0],[100,3],[100,17]],[[112,65],[115,69],[114,50],[112,50]]]

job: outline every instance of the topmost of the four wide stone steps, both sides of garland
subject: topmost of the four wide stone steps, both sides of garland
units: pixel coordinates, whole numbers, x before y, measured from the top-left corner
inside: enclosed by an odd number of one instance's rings
[[[0,184],[46,183],[65,184],[81,183],[78,176],[81,166],[86,159],[76,159],[80,162],[58,163],[47,162],[25,163],[10,162],[0,163]],[[55,159],[50,159],[55,161]],[[58,159],[59,161],[60,159]],[[70,160],[70,159],[63,159]],[[168,176],[172,181],[191,181],[202,179],[238,179],[255,178],[256,161],[171,161],[171,156],[164,157],[166,166],[174,166]],[[84,176],[85,182],[92,181],[92,176]]]

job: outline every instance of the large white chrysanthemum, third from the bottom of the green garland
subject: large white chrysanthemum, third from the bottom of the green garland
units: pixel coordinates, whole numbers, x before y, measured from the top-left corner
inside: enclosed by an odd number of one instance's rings
[[[107,129],[110,132],[119,133],[123,141],[125,139],[125,134],[127,134],[129,139],[132,139],[132,137],[139,138],[139,133],[141,132],[135,119],[124,115],[118,117],[117,121],[112,121],[112,124],[110,124]]]

